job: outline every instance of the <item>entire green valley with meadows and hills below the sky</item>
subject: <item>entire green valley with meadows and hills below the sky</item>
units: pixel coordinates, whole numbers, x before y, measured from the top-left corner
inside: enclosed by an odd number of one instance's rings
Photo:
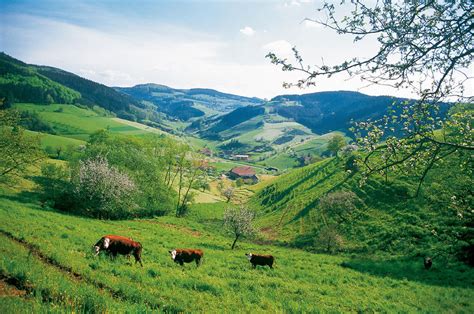
[[[0,74],[2,313],[474,311],[470,157],[437,148],[430,171],[375,171],[391,155],[351,131],[406,99],[108,87],[4,53]],[[433,142],[472,134],[450,123]],[[244,209],[238,233],[229,211]],[[94,256],[107,234],[139,241],[144,266]]]

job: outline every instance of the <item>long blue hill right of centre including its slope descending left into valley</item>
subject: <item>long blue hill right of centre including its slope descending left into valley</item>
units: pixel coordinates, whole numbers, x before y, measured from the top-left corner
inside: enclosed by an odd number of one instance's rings
[[[262,118],[263,115],[267,118],[273,115],[280,120],[295,121],[310,129],[314,134],[320,135],[333,131],[348,133],[351,121],[381,117],[395,101],[403,101],[403,99],[368,96],[350,91],[281,95],[253,109],[244,107],[226,115],[210,119],[204,117],[193,123],[188,130],[200,129],[204,137],[223,138],[220,133],[229,133],[228,129],[234,128],[239,123],[245,123],[252,118],[256,119],[259,115]],[[260,127],[258,124],[254,125],[257,128]],[[246,130],[252,131],[249,128]]]

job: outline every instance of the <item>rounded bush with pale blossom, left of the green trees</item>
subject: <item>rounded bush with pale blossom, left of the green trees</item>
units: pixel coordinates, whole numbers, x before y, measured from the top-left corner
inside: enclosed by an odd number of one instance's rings
[[[118,219],[130,217],[136,209],[135,183],[127,174],[109,166],[104,157],[79,161],[72,186],[82,214]]]

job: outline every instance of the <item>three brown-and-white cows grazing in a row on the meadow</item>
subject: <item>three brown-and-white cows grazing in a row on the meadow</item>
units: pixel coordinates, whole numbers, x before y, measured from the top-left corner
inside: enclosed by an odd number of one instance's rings
[[[125,255],[130,259],[130,255],[135,257],[135,264],[142,263],[142,245],[140,242],[133,241],[132,239],[117,236],[117,235],[106,235],[100,238],[99,241],[94,245],[95,255],[99,255],[100,251],[108,253],[112,258],[117,257],[117,254]],[[181,266],[184,263],[196,262],[196,266],[201,265],[204,257],[204,252],[199,249],[174,249],[168,251],[173,261]],[[245,254],[253,268],[257,265],[269,266],[273,269],[274,257],[272,255],[259,255],[253,253]]]

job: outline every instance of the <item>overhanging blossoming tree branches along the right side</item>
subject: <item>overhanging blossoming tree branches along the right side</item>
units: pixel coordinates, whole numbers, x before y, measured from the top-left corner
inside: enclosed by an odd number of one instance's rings
[[[472,102],[465,87],[472,84],[474,46],[472,1],[343,1],[351,12],[341,16],[336,5],[319,9],[325,19],[312,20],[354,42],[374,38],[378,51],[367,58],[348,58],[335,65],[308,66],[296,48],[294,62],[267,55],[283,71],[299,71],[303,78],[284,86],[312,86],[321,77],[339,73],[358,76],[369,85],[409,89],[418,100],[394,104],[384,117],[356,124],[358,144],[368,151],[362,160],[365,177],[389,171],[414,174],[417,194],[427,173],[451,154],[468,160],[474,150],[472,110],[441,117],[443,101]],[[440,134],[438,130],[443,130]],[[383,144],[380,144],[384,140]],[[461,166],[469,163],[461,163]],[[461,169],[461,171],[464,171]]]

